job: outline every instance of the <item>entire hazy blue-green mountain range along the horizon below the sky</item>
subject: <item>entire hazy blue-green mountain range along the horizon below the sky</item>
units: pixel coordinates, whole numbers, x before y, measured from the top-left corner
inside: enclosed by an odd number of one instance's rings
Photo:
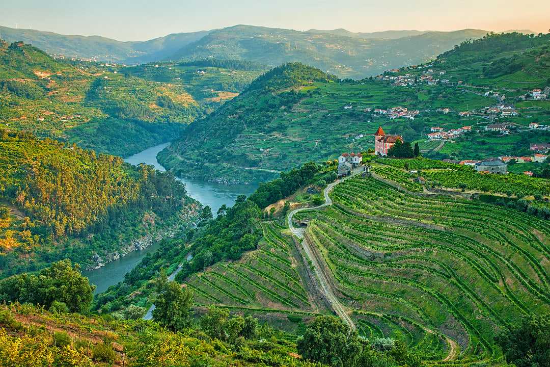
[[[100,36],[69,36],[0,27],[8,42],[23,41],[48,54],[140,64],[161,60],[240,59],[270,67],[285,62],[313,65],[340,78],[360,79],[402,65],[419,64],[483,30],[454,32],[345,29],[295,31],[249,25],[171,34],[149,41],[120,42]]]

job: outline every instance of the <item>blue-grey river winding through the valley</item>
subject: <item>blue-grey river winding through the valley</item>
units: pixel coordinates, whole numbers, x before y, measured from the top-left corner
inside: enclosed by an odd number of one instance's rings
[[[164,167],[157,161],[157,154],[169,144],[170,143],[164,143],[153,146],[125,158],[124,161],[132,165],[145,163],[154,166],[159,171],[165,171]],[[257,185],[224,185],[201,180],[178,179],[185,183],[185,189],[191,198],[198,200],[202,205],[210,206],[214,214],[216,214],[219,207],[223,204],[226,204],[228,207],[233,206],[237,196],[248,196],[252,194],[257,187]],[[123,281],[124,275],[127,272],[134,269],[147,253],[155,252],[158,247],[158,243],[153,243],[145,250],[132,251],[119,260],[108,262],[105,266],[100,267],[100,269],[83,271],[83,275],[89,278],[90,283],[95,284],[95,293],[104,292],[113,284]]]

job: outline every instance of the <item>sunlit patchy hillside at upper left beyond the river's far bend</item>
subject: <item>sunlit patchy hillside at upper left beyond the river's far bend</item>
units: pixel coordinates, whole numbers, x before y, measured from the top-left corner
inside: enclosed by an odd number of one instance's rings
[[[222,65],[199,75],[192,64],[65,63],[22,43],[3,44],[0,58],[0,126],[120,156],[179,136],[259,75]]]

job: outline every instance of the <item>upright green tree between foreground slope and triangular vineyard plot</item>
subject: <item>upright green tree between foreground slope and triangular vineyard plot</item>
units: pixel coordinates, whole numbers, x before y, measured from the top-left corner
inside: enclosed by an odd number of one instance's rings
[[[193,292],[177,282],[167,281],[161,275],[157,282],[157,299],[153,310],[153,320],[169,330],[178,331],[189,326]]]

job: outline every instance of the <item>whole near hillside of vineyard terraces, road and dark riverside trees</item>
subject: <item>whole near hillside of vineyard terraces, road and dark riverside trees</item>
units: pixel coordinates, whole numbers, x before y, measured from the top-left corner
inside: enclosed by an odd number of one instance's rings
[[[333,312],[371,345],[403,341],[418,365],[506,365],[504,354],[513,351],[494,337],[550,311],[550,211],[541,209],[543,201],[478,200],[475,184],[481,180],[486,194],[503,198],[507,190],[547,195],[546,183],[426,158],[367,161],[372,176],[331,184],[327,206],[312,207],[315,194],[305,189],[317,187],[329,167],[302,181],[284,199],[288,206],[266,207],[263,219],[254,203],[274,187],[286,189],[296,173],[261,185],[206,227],[166,240],[123,283],[98,295],[94,309],[149,306],[158,273],[182,264],[176,281],[193,291],[197,308],[216,305],[270,320],[291,337],[304,335],[313,317]],[[405,166],[421,170],[425,185]],[[431,175],[447,171],[467,183],[464,193],[442,178],[447,189],[432,186]]]

